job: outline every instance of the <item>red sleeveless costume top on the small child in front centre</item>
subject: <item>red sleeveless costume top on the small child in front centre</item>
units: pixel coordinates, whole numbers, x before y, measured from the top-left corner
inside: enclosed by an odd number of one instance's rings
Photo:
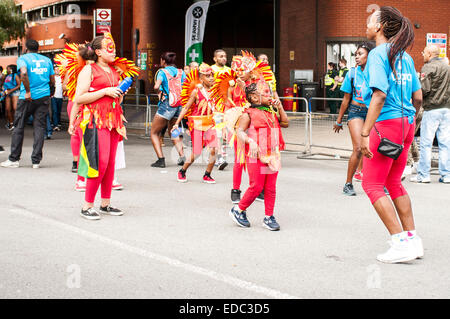
[[[248,137],[258,144],[263,155],[270,155],[277,147],[278,151],[285,149],[280,123],[275,114],[253,107],[245,112],[250,116]]]

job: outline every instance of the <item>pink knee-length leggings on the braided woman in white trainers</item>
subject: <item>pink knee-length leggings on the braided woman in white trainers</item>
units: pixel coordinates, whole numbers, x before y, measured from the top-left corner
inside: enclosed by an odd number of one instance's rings
[[[371,159],[364,157],[362,187],[371,203],[386,196],[384,186],[389,191],[391,199],[407,195],[406,189],[401,183],[401,177],[408,160],[408,151],[414,139],[414,121],[410,124],[408,118],[404,118],[404,148],[396,160],[378,153],[380,137],[373,128],[370,132],[369,147],[373,153]],[[377,122],[376,127],[382,137],[388,138],[394,143],[402,143],[402,122],[400,118]]]

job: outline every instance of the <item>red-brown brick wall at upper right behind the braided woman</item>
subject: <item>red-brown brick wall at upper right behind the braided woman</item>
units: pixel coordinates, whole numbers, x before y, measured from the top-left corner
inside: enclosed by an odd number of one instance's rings
[[[280,0],[280,88],[289,86],[289,70],[315,69],[315,80],[325,73],[326,40],[330,38],[365,38],[366,22],[371,14],[368,7],[390,5],[399,9],[413,24],[415,43],[408,52],[416,69],[423,66],[422,50],[427,33],[448,33],[450,1],[447,0],[318,0],[318,64],[315,55],[315,1]],[[292,31],[292,30],[295,30]],[[297,30],[301,30],[298,32]],[[289,51],[295,51],[295,60],[289,61]]]

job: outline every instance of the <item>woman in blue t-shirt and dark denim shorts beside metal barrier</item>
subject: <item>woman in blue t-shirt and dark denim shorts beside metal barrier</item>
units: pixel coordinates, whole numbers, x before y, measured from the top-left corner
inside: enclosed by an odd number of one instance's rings
[[[347,72],[342,83],[340,90],[344,92],[344,100],[333,127],[336,133],[343,129],[342,118],[348,109],[347,125],[353,144],[353,152],[348,161],[347,180],[343,189],[343,193],[348,196],[356,195],[352,184],[353,177],[357,181],[362,180],[361,131],[367,115],[367,106],[372,98],[372,90],[367,85],[363,72],[367,63],[367,56],[372,48],[373,44],[364,43],[356,49],[355,60],[357,67],[351,68]]]

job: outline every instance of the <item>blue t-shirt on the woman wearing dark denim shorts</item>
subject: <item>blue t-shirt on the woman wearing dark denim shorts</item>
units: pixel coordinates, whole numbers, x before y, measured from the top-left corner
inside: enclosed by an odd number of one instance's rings
[[[366,85],[366,78],[361,67],[351,68],[345,76],[341,86],[341,91],[352,94],[352,79],[355,89],[353,90],[352,100],[369,106],[372,99],[372,90]]]

